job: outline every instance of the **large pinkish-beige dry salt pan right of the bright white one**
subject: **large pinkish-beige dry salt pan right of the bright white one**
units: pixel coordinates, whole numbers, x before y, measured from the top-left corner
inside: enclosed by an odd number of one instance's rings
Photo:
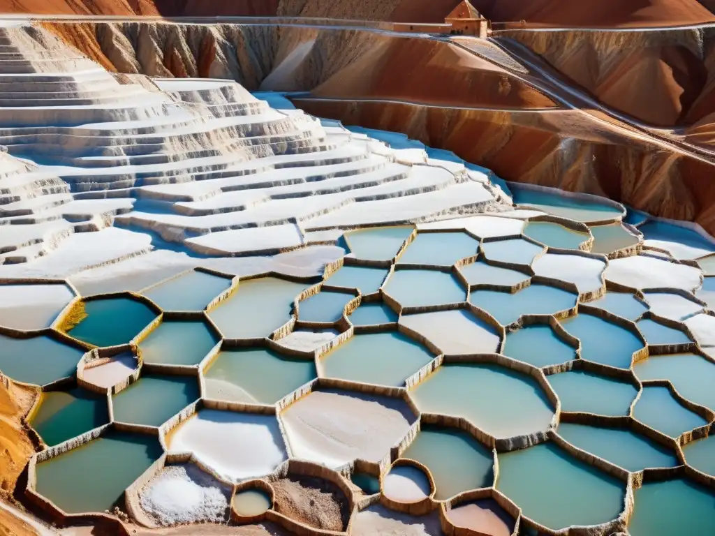
[[[313,391],[280,413],[292,455],[340,467],[379,462],[417,417],[405,400],[339,389]]]

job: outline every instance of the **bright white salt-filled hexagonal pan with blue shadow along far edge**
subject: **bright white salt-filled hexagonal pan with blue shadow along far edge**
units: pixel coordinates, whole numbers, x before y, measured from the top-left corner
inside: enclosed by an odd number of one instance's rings
[[[170,452],[192,452],[230,482],[264,477],[287,460],[275,415],[200,410],[167,435]]]

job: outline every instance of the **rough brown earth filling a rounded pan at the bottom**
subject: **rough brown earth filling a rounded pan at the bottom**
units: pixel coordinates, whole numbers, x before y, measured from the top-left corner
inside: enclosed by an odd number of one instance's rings
[[[347,500],[332,482],[290,477],[272,485],[277,512],[318,529],[345,530],[350,516]]]

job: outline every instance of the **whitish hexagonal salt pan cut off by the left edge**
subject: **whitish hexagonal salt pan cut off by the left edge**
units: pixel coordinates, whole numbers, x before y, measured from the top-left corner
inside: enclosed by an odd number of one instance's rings
[[[0,326],[50,327],[72,298],[74,293],[64,284],[0,285]]]

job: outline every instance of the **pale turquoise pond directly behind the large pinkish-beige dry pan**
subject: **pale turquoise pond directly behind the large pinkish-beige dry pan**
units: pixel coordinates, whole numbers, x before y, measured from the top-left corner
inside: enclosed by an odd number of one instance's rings
[[[434,355],[400,332],[350,337],[320,359],[323,375],[350,382],[401,387]]]

